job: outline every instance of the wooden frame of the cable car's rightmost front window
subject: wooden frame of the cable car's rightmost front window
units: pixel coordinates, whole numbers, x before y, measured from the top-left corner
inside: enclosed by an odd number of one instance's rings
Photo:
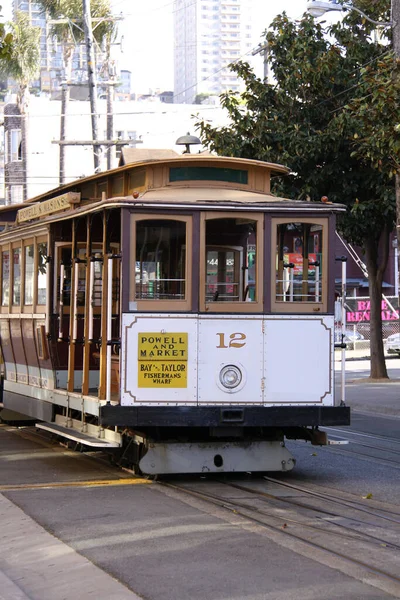
[[[276,245],[278,225],[286,223],[308,223],[322,227],[322,276],[321,276],[321,301],[320,302],[285,302],[276,299]],[[293,215],[290,217],[273,217],[271,219],[271,312],[272,313],[301,313],[315,314],[326,313],[328,310],[328,217],[303,217]]]

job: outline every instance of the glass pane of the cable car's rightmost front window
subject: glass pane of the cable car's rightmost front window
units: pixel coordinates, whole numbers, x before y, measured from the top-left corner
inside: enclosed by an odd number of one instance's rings
[[[276,301],[321,302],[322,242],[322,225],[277,226]]]

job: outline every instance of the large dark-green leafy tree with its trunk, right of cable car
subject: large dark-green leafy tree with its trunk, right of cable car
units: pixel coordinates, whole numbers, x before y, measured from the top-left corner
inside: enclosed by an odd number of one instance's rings
[[[358,5],[372,18],[388,20],[386,0]],[[326,29],[309,15],[298,22],[285,14],[276,17],[265,35],[274,83],[266,85],[246,63],[232,65],[246,89],[241,96],[221,97],[231,124],[214,128],[203,121],[198,125],[203,142],[218,154],[287,164],[292,173],[276,180],[277,193],[311,201],[326,195],[347,206],[338,226],[345,239],[365,253],[371,296],[371,378],[375,379],[387,377],[381,300],[395,222],[396,165],[383,168],[368,157],[363,111],[377,86],[384,94],[385,78],[398,67],[390,46],[374,41],[372,33],[372,26],[354,11]],[[392,78],[391,86],[398,106],[398,78]],[[385,128],[378,103],[372,125],[384,143],[390,127]],[[392,126],[392,140],[393,131]]]

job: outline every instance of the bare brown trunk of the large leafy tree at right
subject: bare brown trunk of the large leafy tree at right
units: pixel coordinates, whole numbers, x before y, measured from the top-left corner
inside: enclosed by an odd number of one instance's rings
[[[379,241],[368,238],[364,242],[369,280],[371,379],[388,379],[383,351],[382,281],[389,255],[389,228],[381,235],[382,257],[378,266]]]

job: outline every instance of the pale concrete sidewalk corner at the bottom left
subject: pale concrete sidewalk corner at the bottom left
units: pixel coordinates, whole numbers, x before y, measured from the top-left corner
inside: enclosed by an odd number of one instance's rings
[[[0,600],[140,600],[0,494]]]

